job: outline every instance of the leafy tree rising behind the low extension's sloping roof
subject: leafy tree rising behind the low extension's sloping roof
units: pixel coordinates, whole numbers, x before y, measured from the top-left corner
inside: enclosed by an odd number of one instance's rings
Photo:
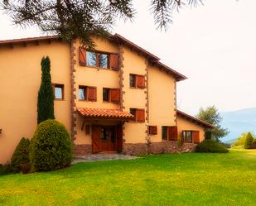
[[[229,134],[229,130],[227,128],[221,127],[220,123],[222,121],[222,117],[215,106],[200,108],[200,111],[196,117],[216,127],[215,129],[211,130],[212,137],[214,137],[216,140],[219,141],[221,137],[225,137]]]

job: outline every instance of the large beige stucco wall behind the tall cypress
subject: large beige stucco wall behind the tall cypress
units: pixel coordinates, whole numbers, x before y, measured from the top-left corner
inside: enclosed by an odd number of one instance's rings
[[[70,131],[70,47],[60,42],[0,47],[0,163],[11,159],[22,137],[36,129],[41,58],[51,59],[53,83],[65,84],[65,100],[55,101],[56,119]]]

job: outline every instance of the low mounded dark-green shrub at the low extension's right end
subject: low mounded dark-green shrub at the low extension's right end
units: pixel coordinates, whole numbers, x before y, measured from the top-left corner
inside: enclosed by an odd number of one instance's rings
[[[196,152],[226,153],[229,150],[218,141],[204,140],[196,146]]]

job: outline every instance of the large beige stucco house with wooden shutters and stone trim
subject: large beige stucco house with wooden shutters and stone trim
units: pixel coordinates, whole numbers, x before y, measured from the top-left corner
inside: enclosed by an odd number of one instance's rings
[[[184,75],[118,34],[93,40],[94,50],[58,36],[0,41],[0,163],[36,129],[46,55],[56,119],[70,132],[75,154],[191,151],[204,140],[213,126],[176,109],[176,83]]]

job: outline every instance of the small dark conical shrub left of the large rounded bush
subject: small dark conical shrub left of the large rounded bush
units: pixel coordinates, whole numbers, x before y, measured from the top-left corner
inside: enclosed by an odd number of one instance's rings
[[[21,165],[29,162],[29,145],[29,139],[22,137],[21,141],[18,143],[15,151],[13,152],[11,165],[15,171],[20,171]]]

